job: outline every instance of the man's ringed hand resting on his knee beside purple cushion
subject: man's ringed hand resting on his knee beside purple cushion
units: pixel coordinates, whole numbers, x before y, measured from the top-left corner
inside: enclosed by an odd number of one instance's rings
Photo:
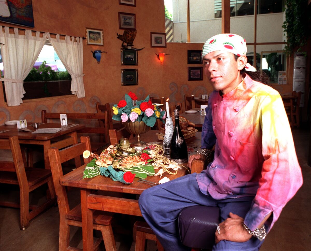
[[[215,233],[216,244],[221,240],[229,240],[234,242],[245,242],[252,238],[252,235],[242,225],[244,219],[234,213],[229,213],[229,218],[219,224],[220,234],[218,230]]]

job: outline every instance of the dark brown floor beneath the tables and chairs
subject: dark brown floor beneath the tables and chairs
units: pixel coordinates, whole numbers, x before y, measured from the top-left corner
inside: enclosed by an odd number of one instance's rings
[[[285,206],[279,220],[267,235],[260,251],[311,250],[311,167],[307,165],[309,130],[293,130],[296,152],[304,176],[304,185]],[[6,193],[0,186],[1,194]],[[18,196],[16,191],[11,195]],[[79,193],[70,191],[71,201],[79,200]],[[2,195],[0,195],[1,197]],[[25,230],[19,229],[19,210],[0,207],[0,250],[3,251],[57,251],[58,250],[58,208],[52,207],[31,221]],[[72,245],[81,247],[81,230],[73,227]],[[133,251],[131,236],[116,235],[119,251]],[[104,249],[103,249],[104,250]],[[156,250],[154,242],[148,242],[148,251]],[[167,250],[169,251],[169,250]]]

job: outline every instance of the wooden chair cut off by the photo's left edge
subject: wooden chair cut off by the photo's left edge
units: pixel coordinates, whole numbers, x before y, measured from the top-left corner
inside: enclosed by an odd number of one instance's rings
[[[21,230],[29,226],[29,221],[55,203],[51,171],[43,168],[25,167],[22,159],[18,137],[0,139],[0,149],[12,151],[13,162],[0,162],[0,183],[19,185],[20,203],[1,201],[1,206],[20,208]],[[29,193],[34,189],[48,184],[47,201],[40,206],[29,205]],[[30,211],[31,210],[31,211]]]

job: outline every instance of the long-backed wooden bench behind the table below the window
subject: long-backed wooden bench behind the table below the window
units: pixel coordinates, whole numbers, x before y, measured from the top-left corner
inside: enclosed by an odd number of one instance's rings
[[[109,105],[109,104],[108,104]],[[110,107],[108,109],[110,112]],[[59,112],[46,112],[45,110],[41,111],[41,120],[43,123],[47,123],[47,119],[60,119]],[[91,142],[91,151],[93,153],[101,153],[101,151],[106,148],[109,143],[109,135],[108,130],[110,128],[109,125],[109,118],[108,118],[108,112],[106,113],[73,113],[73,112],[67,112],[67,119],[68,120],[103,120],[104,127],[100,126],[94,126],[94,127],[88,127],[78,130],[77,133],[83,133],[83,134],[98,134],[104,136],[104,141],[101,142]],[[62,139],[58,141],[58,149],[68,147],[72,145],[72,142],[69,142],[68,139]]]

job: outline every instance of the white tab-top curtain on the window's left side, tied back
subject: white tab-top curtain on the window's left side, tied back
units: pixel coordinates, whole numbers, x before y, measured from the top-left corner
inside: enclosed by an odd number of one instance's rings
[[[40,38],[37,31],[32,36],[31,30],[25,30],[25,35],[19,35],[18,29],[14,28],[14,34],[9,33],[9,27],[0,26],[0,43],[3,60],[3,78],[8,106],[18,106],[23,103],[24,87],[23,80],[29,74],[36,59],[41,52],[47,35],[44,33]]]

